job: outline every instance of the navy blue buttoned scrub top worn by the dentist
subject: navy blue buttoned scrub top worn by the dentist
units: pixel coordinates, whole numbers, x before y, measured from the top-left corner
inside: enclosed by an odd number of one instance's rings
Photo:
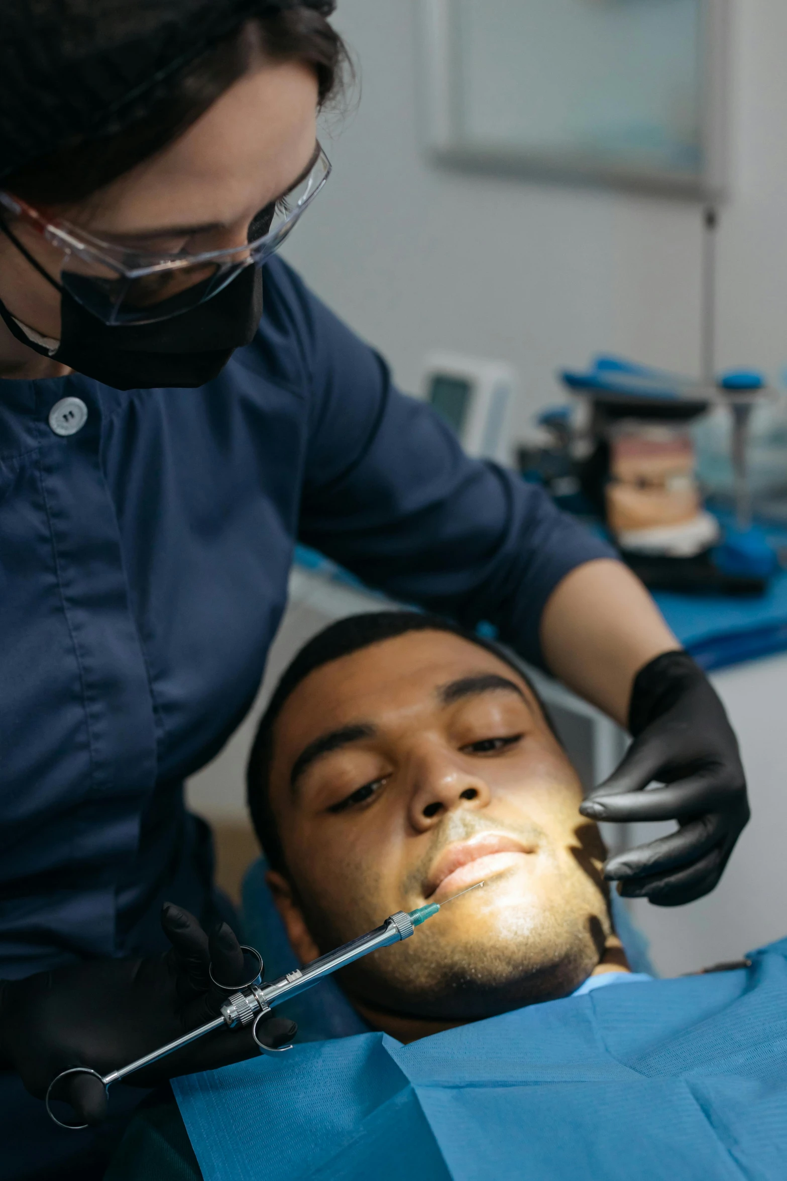
[[[88,417],[59,437],[66,397]],[[0,381],[0,977],[156,951],[164,899],[205,914],[183,781],[255,698],[296,540],[536,661],[551,590],[609,556],[280,260],[202,389]]]

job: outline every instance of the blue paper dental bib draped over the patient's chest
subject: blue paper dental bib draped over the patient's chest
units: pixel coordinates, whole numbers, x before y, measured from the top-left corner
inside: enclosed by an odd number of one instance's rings
[[[173,1090],[205,1181],[783,1181],[787,940],[752,960]]]

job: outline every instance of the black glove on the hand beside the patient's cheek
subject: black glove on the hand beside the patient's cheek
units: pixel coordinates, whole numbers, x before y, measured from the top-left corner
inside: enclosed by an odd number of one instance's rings
[[[737,740],[713,685],[686,652],[656,657],[631,696],[634,742],[579,811],[631,824],[676,820],[680,829],[622,853],[605,876],[624,898],[682,906],[709,894],[749,820]],[[644,789],[654,781],[667,787]]]

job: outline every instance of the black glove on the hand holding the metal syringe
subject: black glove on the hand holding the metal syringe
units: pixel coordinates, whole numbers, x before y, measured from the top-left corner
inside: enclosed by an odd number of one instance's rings
[[[0,983],[0,1065],[17,1070],[31,1095],[44,1098],[52,1079],[72,1066],[99,1075],[118,1070],[217,1017],[227,993],[210,983],[211,963],[222,984],[248,979],[248,961],[225,922],[209,938],[194,915],[168,903],[162,927],[172,944],[164,955],[96,960]],[[275,1017],[257,1027],[274,1048],[295,1031],[293,1022]],[[156,1087],[257,1053],[250,1027],[221,1029],[126,1082]],[[106,1115],[97,1078],[64,1081],[57,1098],[71,1103],[80,1123],[97,1124]]]

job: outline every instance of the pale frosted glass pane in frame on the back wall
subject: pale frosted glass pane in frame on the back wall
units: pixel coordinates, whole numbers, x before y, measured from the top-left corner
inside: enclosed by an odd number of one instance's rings
[[[723,181],[724,0],[424,0],[433,145],[459,161]]]

